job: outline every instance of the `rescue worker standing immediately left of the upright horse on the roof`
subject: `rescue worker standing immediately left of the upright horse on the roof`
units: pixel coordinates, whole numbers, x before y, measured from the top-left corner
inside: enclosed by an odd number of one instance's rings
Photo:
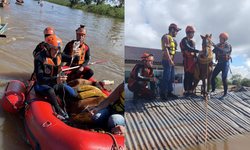
[[[184,64],[184,96],[195,96],[192,91],[196,53],[202,54],[202,51],[195,49],[195,42],[193,41],[195,28],[193,26],[186,27],[186,37],[180,42],[180,48],[183,55]]]

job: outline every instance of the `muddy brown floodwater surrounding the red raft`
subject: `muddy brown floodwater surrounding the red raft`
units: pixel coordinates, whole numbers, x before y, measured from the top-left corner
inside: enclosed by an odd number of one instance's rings
[[[32,52],[44,40],[43,30],[51,26],[62,39],[63,45],[75,39],[75,30],[85,24],[85,42],[91,51],[91,62],[109,59],[108,62],[90,66],[97,81],[115,81],[107,86],[114,90],[124,80],[124,21],[49,2],[27,0],[16,5],[8,0],[10,8],[0,8],[2,23],[8,23],[5,35],[0,38],[0,99],[6,84],[11,80],[26,83],[33,72]],[[29,149],[20,114],[9,114],[0,106],[0,149]]]

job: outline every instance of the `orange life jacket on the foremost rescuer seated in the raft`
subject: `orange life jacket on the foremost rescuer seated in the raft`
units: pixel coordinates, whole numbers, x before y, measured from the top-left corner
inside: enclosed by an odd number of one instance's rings
[[[62,69],[62,56],[61,54],[58,54],[56,56],[56,64],[53,62],[53,60],[46,56],[46,51],[41,52],[36,59],[42,59],[43,61],[43,71],[45,77],[55,77],[58,76],[59,73],[61,73]],[[37,81],[36,73],[34,73],[34,80]]]

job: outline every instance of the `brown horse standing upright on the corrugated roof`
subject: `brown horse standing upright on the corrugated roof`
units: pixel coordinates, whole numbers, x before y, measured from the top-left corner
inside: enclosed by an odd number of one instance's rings
[[[208,96],[209,93],[209,86],[212,77],[212,70],[213,70],[213,55],[211,50],[211,38],[212,34],[205,36],[201,35],[202,38],[202,51],[203,54],[199,55],[197,58],[196,70],[195,70],[195,78],[194,78],[194,85],[193,91],[197,87],[200,80],[202,80],[202,93],[204,98]],[[207,79],[207,92],[206,91],[206,80]]]

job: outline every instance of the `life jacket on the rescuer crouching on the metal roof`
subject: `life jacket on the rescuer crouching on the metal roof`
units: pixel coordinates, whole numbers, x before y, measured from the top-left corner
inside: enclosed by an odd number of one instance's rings
[[[129,84],[136,81],[135,80],[135,70],[137,67],[142,67],[142,76],[144,76],[144,77],[151,78],[154,75],[154,70],[152,68],[146,68],[146,67],[144,67],[144,65],[137,64],[137,65],[135,65],[135,67],[133,68],[133,70],[130,73],[130,77],[128,79]],[[143,81],[143,85],[144,85],[144,87],[146,87],[148,85],[148,81]]]

